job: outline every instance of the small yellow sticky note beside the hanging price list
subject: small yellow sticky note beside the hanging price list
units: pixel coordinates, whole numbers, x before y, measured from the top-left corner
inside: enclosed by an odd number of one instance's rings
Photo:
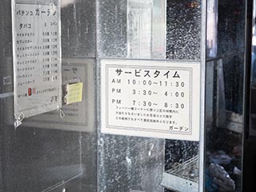
[[[82,102],[82,82],[77,82],[73,84],[68,84],[66,86],[66,104],[74,103],[74,102]]]

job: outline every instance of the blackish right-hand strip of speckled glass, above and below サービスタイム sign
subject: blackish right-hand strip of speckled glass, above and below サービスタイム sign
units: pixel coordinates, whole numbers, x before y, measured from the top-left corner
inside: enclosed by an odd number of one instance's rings
[[[167,1],[166,59],[201,59],[202,1]],[[166,192],[198,191],[199,142],[166,140]]]

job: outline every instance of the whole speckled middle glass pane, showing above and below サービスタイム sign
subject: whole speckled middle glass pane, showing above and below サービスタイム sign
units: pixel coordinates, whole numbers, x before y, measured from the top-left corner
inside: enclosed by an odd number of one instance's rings
[[[98,57],[201,61],[203,2],[164,2],[99,1]],[[163,9],[161,5],[165,5]],[[159,21],[162,14],[166,21],[160,20],[160,26],[154,20]],[[161,33],[154,36],[150,32],[154,27]],[[162,34],[164,48],[155,49],[154,42],[161,45]],[[110,134],[98,137],[98,190],[198,191],[199,142]]]

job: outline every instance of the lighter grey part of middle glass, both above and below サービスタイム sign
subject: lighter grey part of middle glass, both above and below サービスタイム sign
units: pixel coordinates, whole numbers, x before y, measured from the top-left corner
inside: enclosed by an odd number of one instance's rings
[[[165,58],[164,7],[164,1],[99,1],[98,57]],[[163,190],[163,139],[110,134],[98,139],[99,191]]]

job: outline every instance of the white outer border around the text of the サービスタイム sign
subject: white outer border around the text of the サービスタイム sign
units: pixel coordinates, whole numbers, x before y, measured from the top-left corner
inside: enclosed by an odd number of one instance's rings
[[[128,59],[102,59],[101,64],[101,131],[104,134],[119,134],[119,135],[130,135],[139,137],[149,137],[149,138],[169,138],[178,140],[190,140],[199,141],[200,135],[200,112],[201,112],[201,64],[200,62],[181,62],[181,61],[156,61],[156,60],[128,60]],[[129,125],[116,126],[110,125],[108,123],[108,117],[111,115],[111,111],[108,110],[108,72],[107,69],[110,66],[120,66],[120,68],[134,68],[135,66],[150,67],[153,69],[190,69],[193,71],[193,76],[191,80],[191,99],[190,104],[190,120],[191,120],[191,133],[190,134],[174,134],[168,133],[168,131],[162,131],[161,129],[146,129],[146,127],[131,127]],[[122,87],[125,88],[125,87]],[[114,114],[113,114],[114,115]]]

